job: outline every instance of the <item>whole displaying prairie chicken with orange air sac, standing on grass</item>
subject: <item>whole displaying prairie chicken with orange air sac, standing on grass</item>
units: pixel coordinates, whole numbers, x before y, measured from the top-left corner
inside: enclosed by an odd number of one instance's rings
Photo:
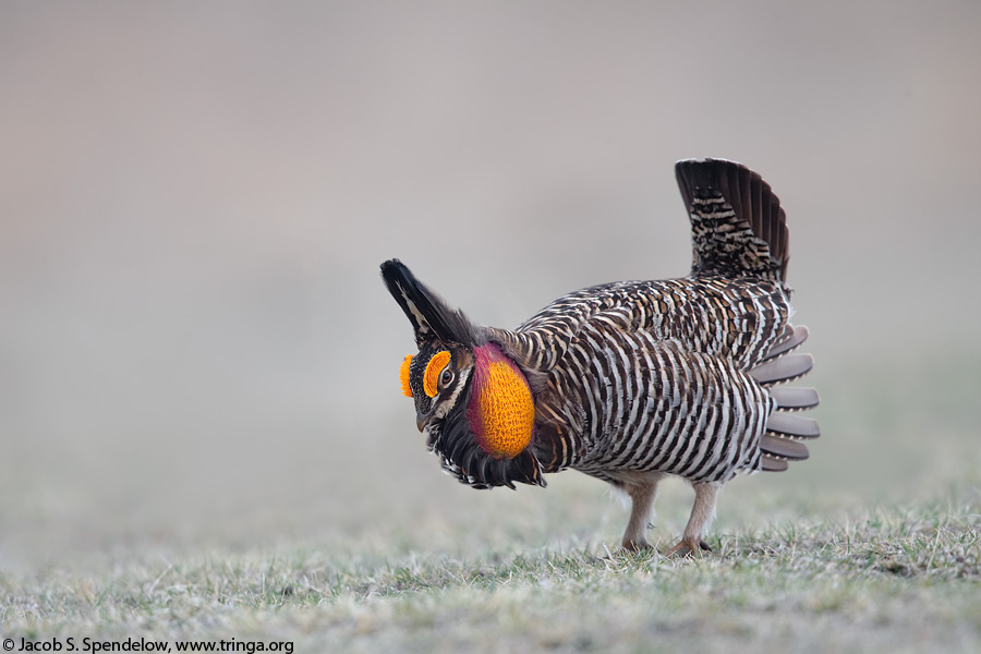
[[[545,486],[579,470],[629,496],[625,549],[645,530],[659,482],[694,506],[668,555],[708,549],[718,492],[737,472],[808,458],[818,423],[795,415],[813,388],[779,386],[813,359],[790,324],[789,234],[762,178],[720,159],[675,173],[691,219],[688,277],[620,281],[559,298],[513,330],[472,323],[398,259],[382,264],[419,353],[401,367],[416,426],[443,468],[474,488]]]

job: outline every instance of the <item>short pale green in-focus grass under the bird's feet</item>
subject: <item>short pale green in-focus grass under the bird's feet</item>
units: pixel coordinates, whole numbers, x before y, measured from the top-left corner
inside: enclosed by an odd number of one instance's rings
[[[295,651],[981,649],[981,496],[719,532],[711,556],[324,546],[0,578],[3,637],[295,642]],[[516,544],[521,546],[521,543]],[[664,545],[664,544],[662,544]]]

